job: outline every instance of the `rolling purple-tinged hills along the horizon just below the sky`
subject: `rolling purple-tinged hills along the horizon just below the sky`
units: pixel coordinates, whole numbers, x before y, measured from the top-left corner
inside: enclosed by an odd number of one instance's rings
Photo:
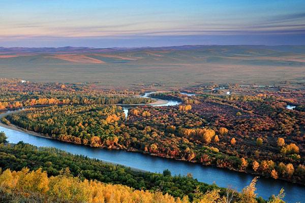
[[[105,48],[0,48],[0,62],[6,65],[111,64],[177,65],[305,65],[305,46],[220,46],[186,45],[173,47]]]

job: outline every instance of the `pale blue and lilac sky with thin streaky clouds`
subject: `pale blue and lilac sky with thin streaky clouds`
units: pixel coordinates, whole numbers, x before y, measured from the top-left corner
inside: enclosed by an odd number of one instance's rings
[[[3,47],[304,45],[304,0],[0,0]]]

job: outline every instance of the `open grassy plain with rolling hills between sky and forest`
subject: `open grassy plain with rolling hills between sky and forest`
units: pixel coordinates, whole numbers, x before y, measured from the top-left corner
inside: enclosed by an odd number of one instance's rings
[[[0,52],[0,77],[101,86],[305,84],[304,46],[200,46],[129,51]]]

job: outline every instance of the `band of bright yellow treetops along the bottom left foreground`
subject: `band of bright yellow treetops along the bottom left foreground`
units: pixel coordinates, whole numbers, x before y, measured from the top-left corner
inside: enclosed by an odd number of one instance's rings
[[[28,195],[32,191],[39,195],[50,195],[60,199],[60,202],[179,202],[189,203],[187,197],[175,199],[160,191],[155,193],[134,190],[123,185],[104,184],[98,181],[81,181],[71,177],[69,170],[55,177],[47,177],[41,168],[29,173],[27,168],[20,172],[4,171],[0,175],[0,187],[7,192]],[[58,201],[59,202],[59,201]]]

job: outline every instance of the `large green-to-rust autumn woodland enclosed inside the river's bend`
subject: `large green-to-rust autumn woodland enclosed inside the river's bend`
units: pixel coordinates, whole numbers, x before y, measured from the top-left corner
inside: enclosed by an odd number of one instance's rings
[[[164,94],[164,95],[163,95]],[[216,165],[304,184],[304,115],[272,98],[158,93],[174,107],[52,106],[3,118],[47,137]],[[217,112],[217,113],[215,113]],[[276,113],[276,114],[275,114]],[[284,117],[284,118],[283,118]]]

